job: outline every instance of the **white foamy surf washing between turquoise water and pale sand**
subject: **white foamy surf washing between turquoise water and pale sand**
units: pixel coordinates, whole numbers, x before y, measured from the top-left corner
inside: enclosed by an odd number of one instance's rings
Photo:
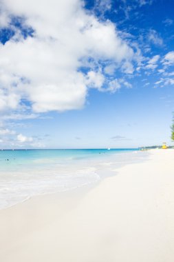
[[[25,168],[21,172],[15,169],[12,172],[7,170],[1,174],[0,210],[18,205],[36,196],[62,194],[78,190],[80,187],[95,186],[102,179],[116,175],[120,167],[144,161],[141,155],[142,152],[135,150],[111,154],[104,159],[97,157],[94,160],[90,159],[89,162],[85,159],[70,165],[67,163],[67,166],[61,168],[56,166],[53,168],[51,165],[50,168],[46,168],[46,171],[39,167],[34,170]],[[148,154],[146,156],[144,154],[144,158],[146,161]],[[15,187],[17,190],[14,190]]]

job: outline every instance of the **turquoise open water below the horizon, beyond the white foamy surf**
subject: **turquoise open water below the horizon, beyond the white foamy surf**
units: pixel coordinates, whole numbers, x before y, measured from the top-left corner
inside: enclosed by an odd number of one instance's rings
[[[52,165],[104,159],[113,154],[135,150],[138,149],[1,150],[0,172],[21,171],[26,168],[51,168]]]

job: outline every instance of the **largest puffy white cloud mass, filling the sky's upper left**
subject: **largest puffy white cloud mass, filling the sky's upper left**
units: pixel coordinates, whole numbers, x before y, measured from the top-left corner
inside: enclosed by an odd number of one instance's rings
[[[80,0],[1,0],[0,10],[8,28],[10,17],[22,17],[21,28],[33,31],[24,37],[13,26],[14,37],[0,45],[0,111],[17,110],[23,99],[34,112],[82,108],[88,85],[103,83],[96,65],[133,72],[133,50]]]

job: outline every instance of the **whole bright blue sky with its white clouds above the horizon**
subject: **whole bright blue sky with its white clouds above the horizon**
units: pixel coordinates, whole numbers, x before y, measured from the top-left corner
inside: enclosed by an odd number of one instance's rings
[[[171,144],[173,0],[0,0],[0,148]]]

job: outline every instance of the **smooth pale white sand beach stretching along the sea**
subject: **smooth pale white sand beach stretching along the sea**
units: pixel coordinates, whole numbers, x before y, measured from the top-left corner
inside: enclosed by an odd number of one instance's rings
[[[0,261],[173,262],[174,150],[118,171],[84,194],[1,210]]]

